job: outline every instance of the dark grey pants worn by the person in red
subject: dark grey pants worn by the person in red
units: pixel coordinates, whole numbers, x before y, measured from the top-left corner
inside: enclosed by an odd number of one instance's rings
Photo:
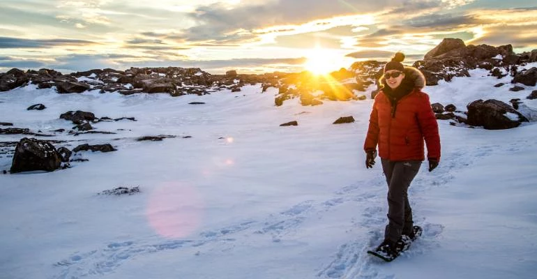
[[[381,159],[382,169],[388,183],[388,225],[384,239],[398,241],[401,234],[411,234],[412,209],[408,199],[408,188],[418,174],[421,161],[394,162]]]

